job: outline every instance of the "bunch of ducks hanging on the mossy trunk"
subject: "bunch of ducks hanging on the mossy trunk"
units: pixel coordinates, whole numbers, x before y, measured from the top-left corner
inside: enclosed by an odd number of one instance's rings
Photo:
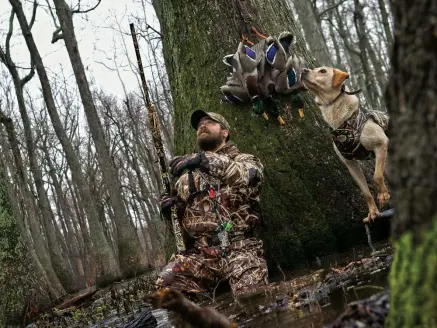
[[[250,101],[256,114],[269,119],[267,109],[280,124],[285,124],[273,96],[304,89],[298,77],[306,63],[291,53],[294,36],[290,32],[282,32],[278,39],[254,32],[262,40],[249,47],[244,44],[247,38],[243,37],[237,52],[223,57],[232,72],[220,91],[225,101],[232,104]]]

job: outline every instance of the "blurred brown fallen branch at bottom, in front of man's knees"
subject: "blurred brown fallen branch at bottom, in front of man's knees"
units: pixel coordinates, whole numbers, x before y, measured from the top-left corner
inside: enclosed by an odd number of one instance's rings
[[[149,301],[155,308],[167,309],[179,313],[183,320],[196,328],[238,327],[235,322],[231,322],[212,307],[201,307],[174,289],[158,291],[150,297]]]

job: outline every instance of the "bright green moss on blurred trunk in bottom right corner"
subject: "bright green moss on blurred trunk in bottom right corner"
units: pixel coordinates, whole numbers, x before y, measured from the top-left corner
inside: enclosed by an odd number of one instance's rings
[[[417,235],[421,235],[420,241]],[[436,241],[437,216],[431,229],[406,232],[396,241],[388,327],[437,327]]]

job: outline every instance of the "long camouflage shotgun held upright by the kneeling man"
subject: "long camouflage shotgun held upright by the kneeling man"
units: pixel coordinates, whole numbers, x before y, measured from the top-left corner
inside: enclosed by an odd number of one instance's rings
[[[155,107],[152,105],[149,97],[149,88],[147,87],[146,78],[144,76],[143,64],[141,61],[140,49],[138,47],[137,35],[135,33],[134,24],[130,24],[130,30],[132,35],[132,40],[134,43],[135,53],[137,56],[138,70],[140,72],[141,82],[143,86],[144,97],[146,101],[146,106],[148,110],[148,118],[150,122],[150,127],[152,128],[153,143],[155,145],[156,154],[158,155],[158,162],[161,168],[161,178],[162,184],[164,186],[165,192],[171,196],[170,187],[170,177],[167,171],[167,165],[165,163],[164,147],[162,145],[161,132],[159,129],[159,120],[156,115]],[[173,226],[173,233],[176,239],[176,248],[179,253],[185,252],[185,244],[182,238],[181,226],[179,224],[176,204],[171,207],[171,223]]]

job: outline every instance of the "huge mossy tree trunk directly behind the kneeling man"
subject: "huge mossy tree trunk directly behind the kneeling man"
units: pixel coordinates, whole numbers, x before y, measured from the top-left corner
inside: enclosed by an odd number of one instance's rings
[[[241,1],[268,34],[296,33],[285,0]],[[283,267],[357,242],[365,242],[361,219],[364,200],[347,169],[336,157],[319,110],[308,106],[303,120],[297,109],[280,128],[275,121],[254,116],[249,106],[233,107],[219,100],[229,70],[224,55],[234,53],[243,22],[232,1],[154,1],[163,34],[164,59],[175,108],[176,153],[195,150],[189,117],[202,107],[223,114],[231,139],[241,151],[261,158],[266,182],[261,195],[267,231],[266,256]],[[254,9],[255,8],[255,9]],[[296,48],[305,55],[298,35]],[[352,218],[356,220],[353,221]]]

